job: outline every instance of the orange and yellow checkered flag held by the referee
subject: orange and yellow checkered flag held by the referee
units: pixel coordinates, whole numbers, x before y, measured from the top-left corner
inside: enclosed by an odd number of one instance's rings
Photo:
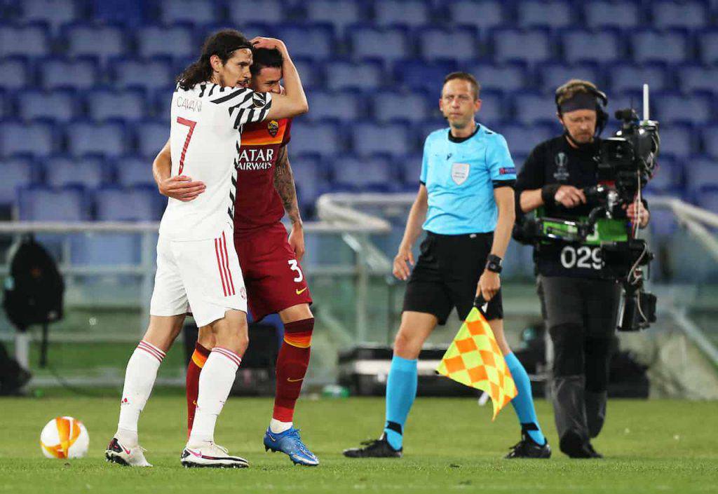
[[[493,331],[476,307],[444,353],[437,372],[457,383],[486,391],[493,401],[493,419],[518,394]]]

